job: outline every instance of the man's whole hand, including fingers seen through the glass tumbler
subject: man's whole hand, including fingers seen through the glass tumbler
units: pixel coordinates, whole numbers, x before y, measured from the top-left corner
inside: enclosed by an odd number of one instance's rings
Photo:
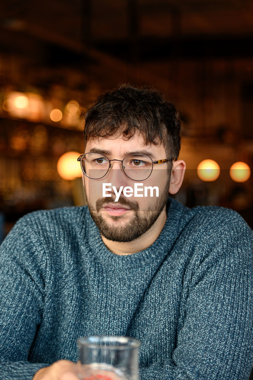
[[[93,364],[82,365],[68,360],[59,360],[36,372],[33,380],[123,380],[124,377]]]

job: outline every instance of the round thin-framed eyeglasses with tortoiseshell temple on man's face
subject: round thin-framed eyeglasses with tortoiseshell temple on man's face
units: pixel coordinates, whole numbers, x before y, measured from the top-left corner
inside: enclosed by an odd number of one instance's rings
[[[168,161],[174,161],[175,158],[167,160],[152,161],[152,159],[144,154],[134,154],[126,156],[123,160],[109,160],[106,156],[99,153],[85,153],[77,158],[80,161],[81,168],[86,177],[90,179],[100,179],[106,176],[109,169],[112,168],[112,161],[120,161],[122,169],[126,176],[136,181],[144,181],[153,170],[154,164],[163,164]]]

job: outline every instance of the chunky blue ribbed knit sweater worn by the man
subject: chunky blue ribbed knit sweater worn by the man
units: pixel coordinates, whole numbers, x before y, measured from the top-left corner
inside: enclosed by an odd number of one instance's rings
[[[119,256],[87,206],[22,217],[0,247],[0,379],[77,361],[90,334],[140,339],[140,380],[248,379],[253,231],[230,209],[169,198],[157,240]]]

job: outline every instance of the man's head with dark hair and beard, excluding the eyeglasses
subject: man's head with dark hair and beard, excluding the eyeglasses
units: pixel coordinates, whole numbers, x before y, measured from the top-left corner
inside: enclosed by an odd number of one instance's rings
[[[129,153],[138,154],[145,149],[153,162],[177,159],[180,132],[179,114],[160,92],[148,87],[138,89],[124,85],[107,91],[90,106],[85,116],[85,153],[99,149],[108,160],[122,161]],[[99,165],[105,161],[96,159]],[[102,236],[108,240],[130,242],[145,234],[165,212],[169,190],[176,193],[182,183],[181,175],[178,180],[174,179],[171,190],[172,166],[172,161],[153,164],[149,178],[141,181],[143,186],[158,186],[158,198],[121,195],[115,202],[114,190],[111,197],[102,196],[103,183],[111,183],[118,191],[120,186],[134,188],[137,182],[126,176],[125,166],[118,161],[112,161],[109,172],[101,179],[83,176],[90,214]],[[126,210],[116,214],[109,207],[114,205]]]

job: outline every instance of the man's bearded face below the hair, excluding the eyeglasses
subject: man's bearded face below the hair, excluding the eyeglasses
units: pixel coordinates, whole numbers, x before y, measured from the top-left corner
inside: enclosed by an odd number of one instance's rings
[[[160,160],[166,157],[163,145],[156,146],[152,144],[147,146],[141,136],[135,134],[130,140],[123,138],[102,138],[98,140],[90,140],[87,142],[85,153],[92,149],[99,149],[100,154],[108,157],[109,160],[123,160],[132,152],[146,151],[146,154],[153,161]],[[99,160],[100,162],[100,160]],[[112,161],[112,168],[101,179],[90,179],[83,175],[84,192],[89,207],[90,214],[98,226],[100,233],[108,240],[117,242],[130,242],[137,239],[142,234],[150,229],[155,223],[161,212],[163,211],[167,198],[169,196],[170,173],[168,172],[167,163],[154,164],[153,170],[149,178],[143,181],[136,181],[128,178],[122,170],[120,161]],[[107,191],[107,195],[103,197],[103,183],[110,183],[111,190]],[[123,195],[123,191],[116,202],[116,194],[120,187],[130,186],[134,189],[134,183],[142,183],[143,186],[157,186],[159,188],[159,196],[150,196],[150,191],[147,191],[147,196],[131,197]],[[141,193],[141,192],[139,192]],[[142,193],[144,195],[144,191]],[[115,209],[114,207],[118,207]],[[120,207],[120,209],[119,209]]]

